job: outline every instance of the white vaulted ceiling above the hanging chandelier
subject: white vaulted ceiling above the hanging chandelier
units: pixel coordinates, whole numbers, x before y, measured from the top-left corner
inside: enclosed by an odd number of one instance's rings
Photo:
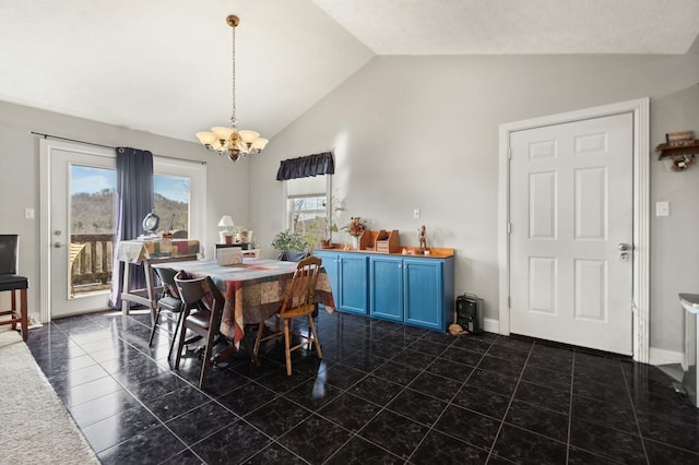
[[[272,138],[375,55],[685,53],[697,0],[0,0],[0,100]],[[60,134],[57,134],[60,135]]]

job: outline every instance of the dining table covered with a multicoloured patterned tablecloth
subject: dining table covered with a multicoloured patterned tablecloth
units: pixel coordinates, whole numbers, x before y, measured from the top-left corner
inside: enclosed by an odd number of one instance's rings
[[[297,265],[280,260],[244,259],[242,263],[234,265],[221,265],[216,260],[192,260],[157,263],[153,267],[181,270],[197,278],[210,276],[225,298],[221,333],[239,347],[246,325],[259,324],[280,311]],[[315,301],[329,313],[334,311],[330,279],[322,267]]]

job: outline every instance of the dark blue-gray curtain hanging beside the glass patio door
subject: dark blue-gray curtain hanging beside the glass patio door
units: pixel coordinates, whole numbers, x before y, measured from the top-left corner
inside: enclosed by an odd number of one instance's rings
[[[114,239],[114,259],[111,267],[111,297],[109,305],[121,307],[121,287],[123,283],[123,262],[117,259],[119,242],[137,239],[143,233],[143,218],[155,206],[153,193],[153,154],[131,147],[117,147],[117,205],[116,234]],[[145,276],[139,266],[129,264],[132,289],[145,287]]]

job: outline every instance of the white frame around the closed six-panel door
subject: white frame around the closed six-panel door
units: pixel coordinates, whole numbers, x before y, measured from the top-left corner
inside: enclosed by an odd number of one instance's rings
[[[585,108],[523,121],[500,124],[499,189],[498,189],[498,252],[499,252],[499,329],[510,334],[510,134],[516,131],[560,124],[582,119],[619,114],[633,115],[633,360],[649,361],[649,295],[650,295],[650,100],[640,98],[602,107]]]

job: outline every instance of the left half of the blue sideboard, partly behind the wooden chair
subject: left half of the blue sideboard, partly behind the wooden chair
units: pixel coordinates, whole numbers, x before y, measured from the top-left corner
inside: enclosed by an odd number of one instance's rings
[[[363,253],[320,252],[337,310],[368,314],[369,259]]]

